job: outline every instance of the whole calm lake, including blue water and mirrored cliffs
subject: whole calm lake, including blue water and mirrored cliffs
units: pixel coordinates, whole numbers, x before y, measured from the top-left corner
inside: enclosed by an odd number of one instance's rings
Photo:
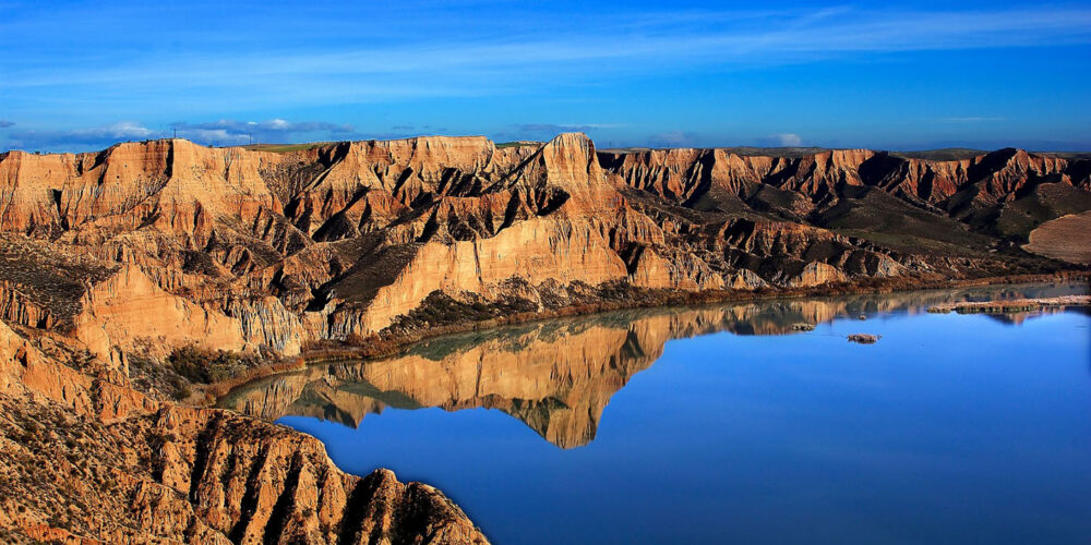
[[[616,312],[316,365],[224,404],[348,472],[435,485],[500,544],[1091,543],[1091,316],[925,312],[1086,291]]]

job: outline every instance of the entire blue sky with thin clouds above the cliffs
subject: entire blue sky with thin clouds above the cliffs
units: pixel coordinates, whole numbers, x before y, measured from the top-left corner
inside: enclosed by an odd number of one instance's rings
[[[0,149],[1091,149],[1091,2],[95,3],[0,0]]]

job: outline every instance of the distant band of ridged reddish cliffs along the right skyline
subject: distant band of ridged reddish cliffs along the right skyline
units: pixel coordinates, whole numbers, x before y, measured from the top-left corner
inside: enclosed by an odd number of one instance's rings
[[[954,198],[995,203],[1052,181],[1091,189],[1086,159],[1000,149],[971,159],[903,158],[885,152],[844,149],[802,157],[740,156],[722,149],[669,149],[602,153],[600,159],[626,183],[673,201],[695,203],[711,191],[752,196],[766,184],[819,202],[844,186],[873,186],[902,198],[946,210],[963,205]]]

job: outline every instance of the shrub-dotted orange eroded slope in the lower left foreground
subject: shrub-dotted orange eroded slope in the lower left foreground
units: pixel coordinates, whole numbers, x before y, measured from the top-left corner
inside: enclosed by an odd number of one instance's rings
[[[311,437],[160,403],[0,323],[0,529],[63,543],[487,543],[432,487]]]

